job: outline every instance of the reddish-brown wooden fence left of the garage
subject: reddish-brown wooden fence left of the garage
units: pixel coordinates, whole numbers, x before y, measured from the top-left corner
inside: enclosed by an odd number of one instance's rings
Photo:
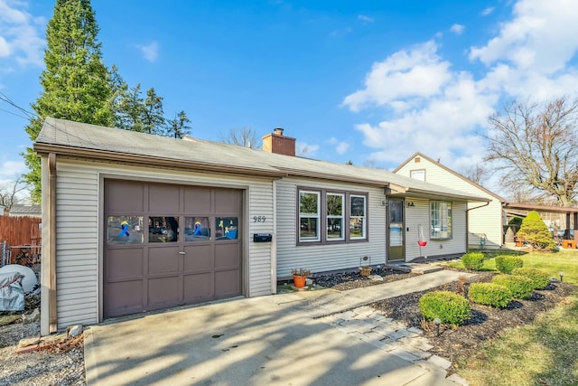
[[[0,216],[0,243],[6,242],[11,251],[10,263],[23,249],[29,249],[31,254],[41,255],[42,219],[37,217]]]

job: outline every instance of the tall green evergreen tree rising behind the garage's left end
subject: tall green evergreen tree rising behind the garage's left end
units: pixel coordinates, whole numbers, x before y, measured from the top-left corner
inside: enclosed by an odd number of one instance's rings
[[[57,0],[46,30],[46,69],[42,71],[42,95],[33,103],[37,117],[26,132],[38,137],[46,117],[70,119],[101,126],[114,125],[113,93],[109,72],[102,61],[97,40],[98,24],[89,0]],[[41,164],[32,148],[24,161],[24,174],[33,186],[31,197],[41,201]]]

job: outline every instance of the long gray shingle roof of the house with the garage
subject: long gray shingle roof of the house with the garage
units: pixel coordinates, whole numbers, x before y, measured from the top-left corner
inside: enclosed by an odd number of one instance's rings
[[[46,118],[34,143],[39,153],[89,154],[107,159],[113,155],[163,160],[164,163],[214,166],[236,173],[294,175],[359,184],[389,185],[393,193],[413,196],[448,197],[462,201],[487,202],[440,185],[424,183],[386,170],[318,161],[298,156],[277,155],[263,150],[228,145],[196,138],[174,139],[99,127],[69,120]],[[96,155],[93,155],[93,157]]]

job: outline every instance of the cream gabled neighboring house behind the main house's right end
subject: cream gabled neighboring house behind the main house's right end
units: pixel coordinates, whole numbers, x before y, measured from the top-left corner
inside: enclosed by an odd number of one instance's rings
[[[468,248],[499,249],[504,245],[503,225],[506,224],[502,207],[505,200],[498,194],[421,153],[410,156],[393,173],[487,198],[489,202],[468,203]]]

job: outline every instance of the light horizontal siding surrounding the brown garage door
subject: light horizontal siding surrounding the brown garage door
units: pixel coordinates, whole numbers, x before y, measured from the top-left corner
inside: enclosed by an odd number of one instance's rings
[[[190,174],[166,169],[123,167],[66,159],[57,162],[57,305],[59,329],[99,322],[102,246],[101,176],[135,178],[167,184],[205,184],[246,189],[244,265],[247,297],[272,293],[272,243],[254,243],[254,233],[273,233],[273,183],[270,179]],[[159,179],[162,179],[159,180]],[[253,222],[253,216],[266,216]],[[246,283],[247,285],[247,283]]]

